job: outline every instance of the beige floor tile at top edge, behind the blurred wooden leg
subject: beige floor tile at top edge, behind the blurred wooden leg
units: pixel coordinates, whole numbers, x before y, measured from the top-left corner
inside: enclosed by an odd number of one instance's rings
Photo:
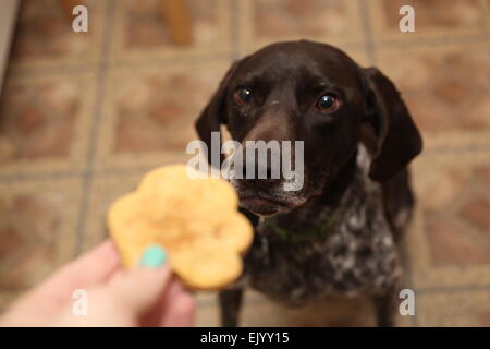
[[[114,12],[111,59],[115,62],[194,59],[230,55],[230,1],[197,1],[189,5],[193,41],[172,45],[160,1],[121,1]]]

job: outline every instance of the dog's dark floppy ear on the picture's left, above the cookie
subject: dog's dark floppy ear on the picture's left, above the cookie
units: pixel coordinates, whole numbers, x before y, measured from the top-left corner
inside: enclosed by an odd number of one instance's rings
[[[208,149],[211,148],[211,132],[220,132],[220,124],[226,124],[225,116],[225,99],[228,95],[228,87],[230,79],[233,75],[238,62],[234,62],[228,70],[224,77],[221,80],[218,89],[212,95],[208,105],[200,112],[199,118],[196,121],[196,131]],[[210,160],[208,158],[208,160]]]

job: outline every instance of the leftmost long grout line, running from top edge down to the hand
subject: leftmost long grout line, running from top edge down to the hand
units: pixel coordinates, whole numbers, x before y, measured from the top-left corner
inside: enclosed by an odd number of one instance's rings
[[[100,57],[105,58],[109,55],[109,46],[110,38],[112,34],[112,20],[113,20],[113,8],[114,2],[111,0],[106,5],[105,13],[105,27],[103,27],[103,38],[101,43]],[[78,212],[78,221],[76,225],[76,243],[75,243],[75,256],[77,256],[82,252],[82,246],[84,242],[84,234],[86,228],[87,220],[87,212],[88,212],[88,202],[90,198],[90,188],[93,178],[95,176],[94,172],[94,157],[97,151],[97,142],[99,135],[99,124],[101,120],[102,113],[102,105],[103,97],[106,91],[106,77],[108,71],[109,63],[107,60],[101,60],[98,67],[98,77],[97,77],[97,86],[95,88],[95,103],[94,103],[94,113],[91,118],[91,127],[90,127],[90,140],[88,147],[88,155],[86,159],[86,168],[83,173],[83,184],[82,184],[82,203]]]

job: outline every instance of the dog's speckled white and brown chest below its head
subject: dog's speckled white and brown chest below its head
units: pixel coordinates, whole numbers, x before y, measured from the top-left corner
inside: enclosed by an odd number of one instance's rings
[[[324,237],[295,241],[269,225],[259,227],[245,257],[244,280],[290,304],[381,294],[397,280],[401,266],[381,190],[364,184],[359,179],[347,191]],[[302,231],[295,233],[301,238]]]

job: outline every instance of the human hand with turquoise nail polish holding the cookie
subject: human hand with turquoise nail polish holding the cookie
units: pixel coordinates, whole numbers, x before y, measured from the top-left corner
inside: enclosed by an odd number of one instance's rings
[[[107,240],[22,296],[0,326],[191,326],[194,299],[168,265],[156,266],[123,270]],[[86,315],[73,312],[77,289],[87,292]]]

